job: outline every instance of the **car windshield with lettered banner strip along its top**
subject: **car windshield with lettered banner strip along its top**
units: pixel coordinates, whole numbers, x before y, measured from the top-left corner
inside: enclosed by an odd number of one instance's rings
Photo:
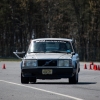
[[[71,53],[73,52],[69,41],[38,40],[30,44],[29,53]]]

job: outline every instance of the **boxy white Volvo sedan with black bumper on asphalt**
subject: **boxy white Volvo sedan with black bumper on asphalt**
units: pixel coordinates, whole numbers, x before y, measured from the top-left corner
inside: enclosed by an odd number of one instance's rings
[[[14,54],[19,57],[20,52]],[[37,79],[68,78],[69,84],[77,84],[79,72],[79,55],[75,51],[73,39],[31,39],[21,62],[21,83],[36,83]]]

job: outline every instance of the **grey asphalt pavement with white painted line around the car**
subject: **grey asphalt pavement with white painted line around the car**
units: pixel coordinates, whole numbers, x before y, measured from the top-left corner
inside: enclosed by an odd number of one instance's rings
[[[1,61],[0,100],[100,100],[100,70],[89,69],[89,62],[80,65],[78,84],[69,84],[68,79],[21,84],[20,62]]]

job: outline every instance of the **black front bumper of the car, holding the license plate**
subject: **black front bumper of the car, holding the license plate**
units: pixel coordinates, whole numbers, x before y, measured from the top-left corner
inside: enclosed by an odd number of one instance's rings
[[[37,79],[70,78],[76,73],[73,68],[29,68],[21,69],[23,77],[36,77]]]

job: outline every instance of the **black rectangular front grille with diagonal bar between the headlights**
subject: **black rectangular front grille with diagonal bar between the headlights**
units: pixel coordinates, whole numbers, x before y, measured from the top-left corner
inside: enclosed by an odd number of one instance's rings
[[[38,66],[57,66],[57,60],[38,60]]]

